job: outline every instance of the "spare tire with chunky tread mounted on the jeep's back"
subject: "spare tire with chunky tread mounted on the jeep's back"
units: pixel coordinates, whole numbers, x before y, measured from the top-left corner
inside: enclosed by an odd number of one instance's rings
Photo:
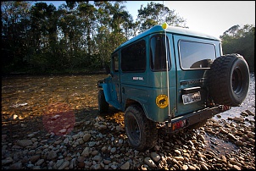
[[[240,54],[216,58],[209,69],[209,94],[217,104],[239,106],[248,94],[248,63]]]

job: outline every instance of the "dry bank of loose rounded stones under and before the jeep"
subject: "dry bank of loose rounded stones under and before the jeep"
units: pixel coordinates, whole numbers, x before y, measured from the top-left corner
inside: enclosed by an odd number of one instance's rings
[[[25,135],[21,130],[30,125],[19,124],[17,135],[2,130],[2,169],[255,169],[255,127],[248,116],[255,114],[247,110],[228,120],[209,119],[198,130],[175,135],[159,129],[158,145],[146,152],[129,146],[122,113],[66,124],[63,130],[52,125],[55,133]],[[63,119],[55,114],[47,122]]]

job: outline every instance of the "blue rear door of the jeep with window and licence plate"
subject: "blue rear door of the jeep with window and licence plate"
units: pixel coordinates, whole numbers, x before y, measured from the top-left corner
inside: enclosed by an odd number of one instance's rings
[[[202,109],[207,97],[207,70],[220,51],[220,41],[174,36],[177,115]]]

